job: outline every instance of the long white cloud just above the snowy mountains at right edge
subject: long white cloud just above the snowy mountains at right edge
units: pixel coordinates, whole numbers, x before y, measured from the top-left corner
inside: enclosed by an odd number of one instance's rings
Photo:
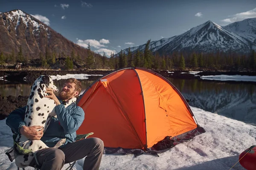
[[[221,21],[223,21],[225,23],[234,23],[234,22],[237,22],[237,21],[245,20],[247,18],[254,18],[254,17],[256,17],[256,8],[254,8],[250,11],[230,15],[228,17],[229,18],[226,18],[226,19],[221,20]]]

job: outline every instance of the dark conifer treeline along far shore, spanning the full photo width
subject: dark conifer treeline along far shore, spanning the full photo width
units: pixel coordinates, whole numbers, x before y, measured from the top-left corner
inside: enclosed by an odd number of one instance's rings
[[[128,53],[120,51],[119,54],[111,54],[111,57],[106,57],[105,53],[102,55],[94,53],[88,44],[88,54],[86,57],[75,54],[72,50],[70,55],[49,53],[47,47],[45,53],[40,53],[37,59],[28,59],[23,55],[20,47],[17,54],[4,55],[0,51],[0,65],[5,63],[22,62],[25,65],[32,65],[41,68],[91,68],[91,69],[118,69],[125,67],[142,67],[153,70],[240,70],[240,71],[256,71],[256,52],[251,51],[250,54],[237,54],[232,51],[224,53],[218,51],[216,53],[185,53],[174,52],[172,54],[158,54],[152,53],[149,50],[148,40],[144,51],[131,51],[128,48]]]

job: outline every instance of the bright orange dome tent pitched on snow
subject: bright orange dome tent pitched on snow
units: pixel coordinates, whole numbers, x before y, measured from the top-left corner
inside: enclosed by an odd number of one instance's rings
[[[93,132],[108,150],[152,153],[205,132],[177,88],[144,68],[123,68],[99,78],[78,105],[85,116],[77,134]],[[172,144],[158,149],[161,142]]]

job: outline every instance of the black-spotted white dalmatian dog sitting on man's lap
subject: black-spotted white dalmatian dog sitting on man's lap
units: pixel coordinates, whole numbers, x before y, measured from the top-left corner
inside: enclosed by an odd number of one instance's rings
[[[56,104],[54,100],[45,97],[47,96],[46,88],[52,88],[55,93],[58,92],[58,88],[53,84],[52,79],[46,75],[40,76],[31,86],[31,93],[27,102],[24,119],[27,127],[35,125],[43,126],[45,131],[49,125],[51,117],[56,116],[54,110]],[[70,105],[74,100],[76,100],[76,98],[72,98],[72,101],[70,99],[70,101],[65,104],[65,107]],[[18,155],[15,158],[17,167],[22,168],[29,166],[37,150],[48,148],[41,140],[28,139],[22,134],[17,136],[15,142],[23,147],[23,149],[29,149],[34,152],[26,155]],[[65,142],[66,139],[61,139],[54,148],[60,147]]]

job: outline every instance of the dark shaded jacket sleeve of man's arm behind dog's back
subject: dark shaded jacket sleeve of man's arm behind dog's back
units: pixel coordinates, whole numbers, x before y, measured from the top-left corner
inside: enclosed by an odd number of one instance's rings
[[[26,106],[23,108],[18,108],[15,111],[12,111],[6,119],[6,125],[8,125],[12,131],[16,134],[20,134],[20,127],[26,126],[24,122],[26,112]]]

